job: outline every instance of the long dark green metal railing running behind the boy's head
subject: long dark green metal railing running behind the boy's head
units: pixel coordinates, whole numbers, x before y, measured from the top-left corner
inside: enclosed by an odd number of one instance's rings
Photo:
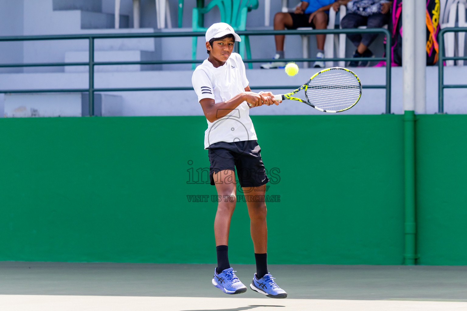
[[[322,29],[322,30],[260,30],[260,31],[238,31],[238,35],[328,35],[328,34],[353,34],[353,33],[379,33],[386,35],[385,57],[361,57],[359,60],[365,61],[386,61],[386,84],[363,85],[364,89],[385,89],[386,107],[385,113],[391,113],[391,61],[390,47],[391,36],[385,28],[369,29]],[[169,60],[169,61],[134,61],[134,62],[95,62],[94,61],[94,41],[96,39],[128,39],[128,38],[164,38],[164,37],[204,37],[204,32],[170,32],[170,33],[142,33],[142,34],[95,34],[95,35],[35,35],[35,36],[9,36],[0,37],[1,41],[42,41],[42,40],[88,40],[89,60],[88,62],[50,62],[50,63],[17,63],[0,64],[0,68],[14,67],[64,67],[64,66],[88,66],[89,87],[87,89],[51,89],[51,90],[0,90],[0,93],[50,93],[50,92],[88,92],[89,93],[89,115],[94,115],[94,93],[95,92],[116,92],[116,91],[161,91],[161,90],[192,90],[192,87],[153,87],[153,88],[94,88],[94,67],[105,65],[156,65],[156,64],[191,64],[201,63],[203,60]],[[286,58],[283,62],[315,62],[315,61],[352,61],[353,58]],[[271,59],[244,59],[243,62],[270,62]],[[305,81],[304,81],[305,82]],[[297,85],[279,86],[250,86],[252,90],[258,89],[295,89]]]

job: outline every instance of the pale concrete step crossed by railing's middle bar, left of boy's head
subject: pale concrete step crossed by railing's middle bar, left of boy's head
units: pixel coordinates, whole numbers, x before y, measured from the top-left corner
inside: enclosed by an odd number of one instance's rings
[[[65,62],[88,62],[89,52],[87,51],[67,51],[65,52]],[[140,62],[155,60],[156,52],[141,50],[123,51],[95,51],[95,62]],[[95,66],[94,72],[122,72],[141,70],[160,70],[161,65],[106,65]],[[65,72],[88,72],[87,66],[67,66]]]

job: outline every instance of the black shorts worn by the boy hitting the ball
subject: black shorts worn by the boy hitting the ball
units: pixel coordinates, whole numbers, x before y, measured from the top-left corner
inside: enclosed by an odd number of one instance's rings
[[[256,140],[233,143],[220,141],[210,145],[207,149],[211,163],[209,167],[211,185],[215,185],[213,173],[222,170],[235,172],[235,167],[237,167],[241,187],[259,187],[269,181],[261,159],[261,148]]]

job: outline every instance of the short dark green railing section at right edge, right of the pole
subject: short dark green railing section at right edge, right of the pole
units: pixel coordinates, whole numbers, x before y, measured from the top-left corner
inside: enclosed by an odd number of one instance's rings
[[[466,27],[443,28],[438,33],[438,113],[444,113],[444,89],[467,88],[467,84],[444,84],[444,61],[467,60],[467,56],[444,56],[444,34],[446,32],[467,32]]]

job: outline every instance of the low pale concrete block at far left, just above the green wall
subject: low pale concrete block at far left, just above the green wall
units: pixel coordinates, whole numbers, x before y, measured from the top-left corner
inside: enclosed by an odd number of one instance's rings
[[[81,117],[89,111],[87,93],[5,94],[4,117]],[[122,116],[122,97],[95,94],[94,115]]]

